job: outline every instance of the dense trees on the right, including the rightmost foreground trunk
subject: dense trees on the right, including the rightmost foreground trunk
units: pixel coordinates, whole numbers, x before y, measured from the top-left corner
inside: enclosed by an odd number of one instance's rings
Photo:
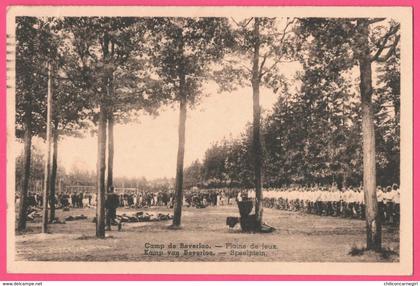
[[[399,23],[384,20],[300,19],[294,60],[303,67],[302,87],[290,92],[287,83],[280,86],[281,96],[261,134],[266,156],[255,141],[259,125],[254,121],[242,138],[215,144],[202,164],[190,166],[187,173],[198,177],[189,181],[253,186],[258,202],[261,174],[255,160],[264,157],[268,186],[362,181],[367,248],[380,249],[376,180],[398,182],[400,162]],[[356,69],[357,78],[352,76]],[[376,90],[372,72],[378,78]]]

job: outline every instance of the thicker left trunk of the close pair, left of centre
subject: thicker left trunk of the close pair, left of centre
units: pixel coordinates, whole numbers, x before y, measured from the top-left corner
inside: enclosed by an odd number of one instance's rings
[[[106,113],[101,103],[98,122],[98,159],[96,163],[98,188],[96,204],[96,237],[105,238],[105,153],[106,153]]]

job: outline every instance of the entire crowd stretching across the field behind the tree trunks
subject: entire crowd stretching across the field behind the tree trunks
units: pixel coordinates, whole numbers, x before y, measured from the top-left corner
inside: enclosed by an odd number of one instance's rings
[[[147,208],[174,204],[173,191],[147,192],[130,190],[116,192],[118,207]],[[292,212],[304,212],[320,216],[346,217],[364,219],[365,203],[361,187],[338,189],[335,186],[291,186],[266,188],[263,191],[263,205]],[[255,198],[253,189],[223,188],[186,190],[183,205],[185,207],[205,208],[208,206],[234,205],[237,201]],[[17,200],[19,198],[17,197]],[[394,184],[386,188],[377,188],[379,214],[384,223],[399,224],[400,191]],[[42,207],[42,196],[30,193],[28,205]],[[94,192],[67,192],[56,195],[56,208],[83,208],[96,205]]]

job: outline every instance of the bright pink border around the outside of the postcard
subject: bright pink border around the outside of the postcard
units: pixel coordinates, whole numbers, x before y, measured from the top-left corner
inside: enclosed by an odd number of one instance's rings
[[[413,8],[413,211],[414,211],[414,272],[411,276],[361,276],[361,275],[155,275],[155,274],[11,274],[6,269],[6,11],[13,5],[101,5],[101,6],[405,6]],[[420,4],[416,0],[3,0],[0,3],[0,281],[292,281],[292,280],[420,280],[420,197],[416,190],[420,187]]]

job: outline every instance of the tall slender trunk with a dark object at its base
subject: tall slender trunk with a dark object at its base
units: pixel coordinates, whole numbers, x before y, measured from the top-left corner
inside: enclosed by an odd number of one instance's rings
[[[254,153],[255,172],[255,215],[257,225],[261,227],[263,216],[263,194],[262,194],[262,146],[260,135],[261,107],[260,107],[260,19],[254,21],[254,57],[252,60],[252,103],[253,103],[253,125],[252,125],[252,147]]]

